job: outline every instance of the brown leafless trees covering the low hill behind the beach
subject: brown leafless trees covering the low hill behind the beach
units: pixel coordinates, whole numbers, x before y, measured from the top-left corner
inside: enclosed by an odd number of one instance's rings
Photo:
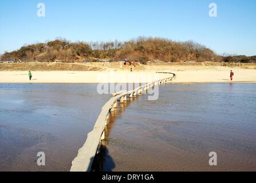
[[[1,55],[1,60],[79,62],[129,59],[140,62],[255,62],[255,57],[222,57],[194,41],[177,42],[164,38],[138,37],[125,42],[70,42],[57,38],[54,41],[34,43],[15,51],[5,52]]]

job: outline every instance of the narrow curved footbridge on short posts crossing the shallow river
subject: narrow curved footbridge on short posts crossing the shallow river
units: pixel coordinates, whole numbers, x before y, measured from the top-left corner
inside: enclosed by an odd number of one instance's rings
[[[172,81],[176,77],[174,73],[157,72],[172,74],[172,77],[160,79],[151,83],[146,83],[143,86],[137,87],[134,90],[122,91],[113,94],[112,97],[101,109],[101,113],[97,118],[92,132],[88,133],[85,144],[78,150],[77,157],[72,161],[70,172],[88,172],[91,170],[94,156],[100,152],[101,141],[105,138],[105,128],[108,125],[109,113],[111,113],[117,107],[117,102],[123,103],[127,100],[127,97],[135,97],[137,94],[142,94],[143,90],[147,91],[156,85],[162,85],[164,83]]]

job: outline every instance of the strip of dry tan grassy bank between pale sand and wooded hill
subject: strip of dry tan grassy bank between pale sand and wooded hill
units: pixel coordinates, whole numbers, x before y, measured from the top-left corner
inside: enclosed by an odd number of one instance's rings
[[[120,67],[122,65],[122,67]],[[241,69],[256,69],[255,63],[174,63],[174,62],[149,62],[147,65],[132,66],[133,70],[173,70],[186,71],[195,69],[225,69],[236,67]],[[0,63],[0,71],[54,71],[54,70],[77,70],[77,71],[100,71],[100,70],[129,70],[131,66],[124,66],[123,62],[89,62],[89,63]]]

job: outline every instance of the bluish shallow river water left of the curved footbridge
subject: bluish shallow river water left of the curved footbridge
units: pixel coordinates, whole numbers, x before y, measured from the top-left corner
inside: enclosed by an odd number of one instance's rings
[[[11,171],[68,171],[109,100],[90,84],[0,84],[0,97],[0,170]]]

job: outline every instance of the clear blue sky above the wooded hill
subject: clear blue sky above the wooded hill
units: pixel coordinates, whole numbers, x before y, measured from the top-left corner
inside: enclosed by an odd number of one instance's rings
[[[37,17],[40,2],[45,17]],[[218,17],[208,16],[211,2]],[[194,40],[218,54],[256,55],[254,0],[1,0],[0,26],[0,53],[56,37],[126,41],[151,36]]]

